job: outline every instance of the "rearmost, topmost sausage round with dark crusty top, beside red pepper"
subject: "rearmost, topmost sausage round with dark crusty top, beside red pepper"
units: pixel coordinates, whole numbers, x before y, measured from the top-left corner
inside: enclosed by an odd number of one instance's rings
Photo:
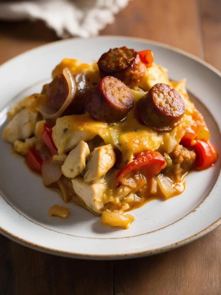
[[[113,76],[129,87],[141,82],[146,66],[134,49],[126,46],[110,49],[98,60],[101,78]]]

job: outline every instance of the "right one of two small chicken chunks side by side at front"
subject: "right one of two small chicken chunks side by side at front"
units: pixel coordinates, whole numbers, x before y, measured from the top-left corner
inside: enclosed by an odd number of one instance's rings
[[[95,182],[113,167],[116,156],[112,145],[95,148],[88,158],[84,180]]]

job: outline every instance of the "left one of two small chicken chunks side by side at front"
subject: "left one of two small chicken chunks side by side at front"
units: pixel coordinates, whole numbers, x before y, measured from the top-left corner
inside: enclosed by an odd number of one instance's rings
[[[61,171],[67,178],[75,178],[86,166],[86,159],[90,155],[88,144],[81,140],[74,150],[72,150],[65,163],[61,167]]]

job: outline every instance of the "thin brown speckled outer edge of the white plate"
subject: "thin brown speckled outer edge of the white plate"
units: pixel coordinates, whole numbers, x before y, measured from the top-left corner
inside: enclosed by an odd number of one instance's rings
[[[174,51],[174,52],[180,53],[182,55],[185,55],[186,57],[188,57],[188,58],[190,58],[192,60],[195,60],[198,63],[201,63],[202,65],[204,65],[205,67],[209,68],[211,71],[213,71],[214,73],[216,73],[221,78],[221,72],[218,71],[215,67],[213,67],[209,63],[201,60],[197,56],[194,56],[192,54],[189,54],[189,53],[187,53],[187,52],[185,52],[183,50],[180,50],[180,49],[178,49],[176,47],[171,47],[169,45],[166,45],[166,44],[163,44],[163,43],[160,43],[160,42],[154,42],[154,41],[151,41],[151,40],[142,39],[142,38],[136,38],[136,37],[98,36],[98,37],[94,37],[94,38],[90,38],[90,39],[97,39],[97,38],[99,38],[99,39],[100,38],[110,38],[110,39],[111,38],[120,38],[120,39],[125,39],[125,40],[128,40],[128,41],[133,41],[133,40],[134,41],[141,41],[141,42],[150,43],[150,44],[153,44],[153,45],[156,45],[156,46],[159,46],[159,47],[163,47],[163,48],[169,49],[171,51]],[[80,38],[73,38],[73,40],[76,40],[76,39],[80,39]],[[34,48],[32,50],[28,50],[27,52],[37,50],[37,49],[39,49],[41,47],[47,47],[48,45],[51,45],[51,44],[54,44],[54,43],[58,43],[58,42],[64,42],[64,40],[58,40],[58,41],[55,41],[55,42],[48,43],[46,45],[38,46],[38,47],[36,47],[36,48]],[[7,63],[11,62],[12,60],[16,59],[19,56],[25,55],[27,52],[22,53],[22,54],[20,54],[20,55],[18,55],[16,57],[10,59],[9,61],[3,63],[1,66],[7,65]],[[220,175],[219,175],[219,178],[220,178]],[[190,213],[192,213],[192,212],[189,212],[189,214]],[[187,215],[189,215],[189,214],[187,214]],[[21,245],[24,245],[24,246],[27,246],[29,248],[32,248],[32,249],[35,249],[35,250],[39,250],[39,251],[42,251],[42,252],[46,252],[46,253],[51,253],[51,254],[56,254],[56,255],[61,255],[61,256],[66,256],[66,257],[72,257],[72,258],[85,258],[85,259],[126,259],[126,258],[136,258],[136,257],[141,257],[141,256],[153,255],[153,254],[161,253],[161,252],[164,252],[164,251],[167,251],[167,250],[171,250],[171,249],[180,247],[180,246],[185,245],[185,244],[187,244],[187,243],[189,243],[191,241],[196,240],[199,237],[202,237],[203,235],[207,234],[208,232],[214,230],[220,224],[221,224],[221,218],[220,219],[217,219],[217,221],[215,221],[214,223],[212,223],[210,226],[208,226],[204,230],[198,232],[195,235],[192,235],[191,237],[185,238],[184,240],[181,240],[179,242],[172,243],[172,244],[167,245],[165,247],[156,248],[154,250],[148,250],[148,251],[142,251],[142,252],[135,252],[135,251],[133,251],[133,253],[119,254],[119,255],[117,255],[117,254],[113,254],[113,255],[86,255],[86,254],[80,254],[80,253],[73,253],[73,252],[66,252],[66,251],[58,251],[58,250],[55,250],[55,249],[52,249],[52,248],[42,247],[40,245],[36,245],[34,243],[31,243],[31,242],[29,242],[27,240],[21,239],[18,236],[13,235],[10,232],[7,232],[2,227],[0,227],[0,232],[4,236],[10,238],[11,240],[13,240],[15,242],[18,242]]]

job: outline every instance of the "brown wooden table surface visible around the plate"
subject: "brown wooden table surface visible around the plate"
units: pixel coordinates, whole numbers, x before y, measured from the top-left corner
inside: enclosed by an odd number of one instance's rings
[[[221,70],[220,0],[135,0],[101,32],[115,34],[182,48]],[[56,39],[41,22],[0,22],[0,63]],[[86,261],[43,254],[0,236],[0,295],[220,295],[220,244],[221,227],[152,257]]]

